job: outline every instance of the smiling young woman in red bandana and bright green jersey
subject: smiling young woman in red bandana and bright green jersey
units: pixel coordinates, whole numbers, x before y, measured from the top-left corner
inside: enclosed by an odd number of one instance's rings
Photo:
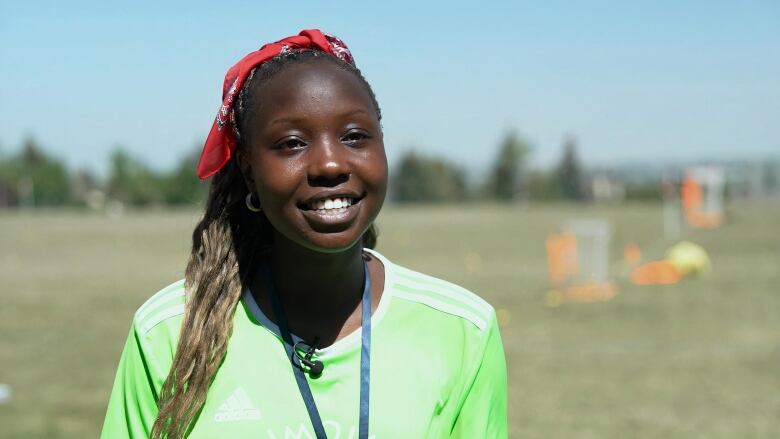
[[[135,314],[104,438],[503,438],[493,308],[371,250],[380,111],[307,30],[225,77],[185,279]]]

